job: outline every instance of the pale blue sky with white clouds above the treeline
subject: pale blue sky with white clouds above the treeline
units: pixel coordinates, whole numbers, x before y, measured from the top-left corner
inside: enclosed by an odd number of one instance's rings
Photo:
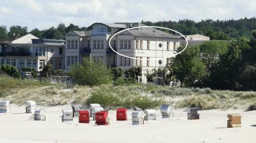
[[[256,16],[256,0],[0,0],[0,26],[27,26],[28,31],[62,22],[225,20]]]

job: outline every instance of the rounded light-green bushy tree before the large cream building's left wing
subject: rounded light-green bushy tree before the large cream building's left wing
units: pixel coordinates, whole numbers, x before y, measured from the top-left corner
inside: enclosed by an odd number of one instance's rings
[[[69,74],[80,85],[93,86],[112,82],[111,70],[103,62],[94,63],[89,58],[72,66]]]

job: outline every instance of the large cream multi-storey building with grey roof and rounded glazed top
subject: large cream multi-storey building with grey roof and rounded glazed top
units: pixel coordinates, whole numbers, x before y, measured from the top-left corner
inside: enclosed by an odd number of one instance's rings
[[[132,26],[145,26],[141,23],[94,23],[93,29],[86,32],[70,32],[66,35],[65,70],[90,57],[93,62],[102,59],[105,64],[127,70],[142,67],[141,82],[146,83],[145,71],[161,68],[169,64],[163,60],[133,60],[120,56],[109,46],[110,37]],[[138,59],[156,59],[171,56],[180,45],[181,38],[157,30],[156,28],[135,28],[113,37],[111,46],[119,53]]]

